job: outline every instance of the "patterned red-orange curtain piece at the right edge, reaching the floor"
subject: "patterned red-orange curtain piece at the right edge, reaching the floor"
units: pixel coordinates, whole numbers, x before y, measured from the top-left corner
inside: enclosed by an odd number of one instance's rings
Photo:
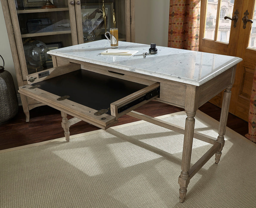
[[[256,143],[256,69],[252,83],[248,126],[249,133],[246,134],[245,137]]]

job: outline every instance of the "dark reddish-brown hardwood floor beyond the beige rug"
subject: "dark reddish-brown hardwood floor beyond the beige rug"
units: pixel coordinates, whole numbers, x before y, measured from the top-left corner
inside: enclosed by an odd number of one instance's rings
[[[220,119],[221,109],[209,102],[202,105],[199,110],[218,121]],[[150,101],[137,108],[136,111],[156,117],[184,111],[184,109],[157,101]],[[68,116],[68,118],[70,119],[72,116]],[[118,120],[116,125],[138,120],[124,115]],[[228,116],[227,126],[243,136],[248,133],[248,122],[232,114]],[[97,129],[99,128],[81,121],[72,125],[69,131],[70,135],[75,135]],[[0,124],[0,132],[0,150],[64,137],[60,111],[46,105],[30,111],[30,122],[25,122],[22,107],[19,107],[17,116],[4,124]]]

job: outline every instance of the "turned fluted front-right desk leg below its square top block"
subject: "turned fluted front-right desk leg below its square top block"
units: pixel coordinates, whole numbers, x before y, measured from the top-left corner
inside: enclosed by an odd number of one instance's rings
[[[181,203],[185,201],[187,193],[187,185],[189,184],[190,179],[188,179],[188,171],[190,168],[191,152],[192,152],[192,143],[193,143],[193,134],[195,127],[195,115],[196,112],[187,112],[187,118],[185,122],[185,132],[184,132],[184,144],[182,152],[182,161],[181,161],[181,174],[179,176],[179,200]]]

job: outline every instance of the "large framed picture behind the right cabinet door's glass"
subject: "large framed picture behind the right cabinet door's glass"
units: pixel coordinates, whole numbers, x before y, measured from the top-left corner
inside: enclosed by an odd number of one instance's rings
[[[107,3],[104,3],[104,5],[105,5],[105,13],[106,13],[106,29],[109,30],[114,26],[113,2],[107,2]],[[94,30],[96,34],[105,33],[102,6],[103,4],[97,4],[97,3],[81,4],[83,31],[90,33],[91,31]],[[86,24],[86,21],[88,20],[91,23],[91,29],[89,29],[88,24]]]

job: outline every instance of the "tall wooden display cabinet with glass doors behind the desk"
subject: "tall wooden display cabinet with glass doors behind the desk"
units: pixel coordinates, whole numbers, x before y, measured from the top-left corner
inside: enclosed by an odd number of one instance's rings
[[[49,50],[105,39],[112,27],[118,28],[119,40],[134,42],[134,0],[1,0],[1,4],[18,86],[27,84],[27,75],[53,67]],[[27,122],[29,110],[43,105],[24,95],[21,102]]]

